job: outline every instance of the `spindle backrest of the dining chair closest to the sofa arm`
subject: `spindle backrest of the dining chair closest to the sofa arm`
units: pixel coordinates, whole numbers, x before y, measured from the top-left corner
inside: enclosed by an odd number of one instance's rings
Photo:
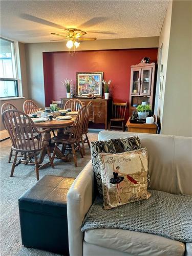
[[[80,140],[82,124],[84,121],[85,113],[86,113],[86,106],[82,106],[82,108],[79,110],[79,112],[75,118],[75,121],[73,123],[73,127],[71,129],[71,134],[69,136],[69,140]]]

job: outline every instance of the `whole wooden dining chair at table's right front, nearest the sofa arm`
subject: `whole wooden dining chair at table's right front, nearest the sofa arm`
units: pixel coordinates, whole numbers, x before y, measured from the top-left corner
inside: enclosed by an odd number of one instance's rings
[[[84,120],[84,115],[86,113],[86,106],[83,106],[73,123],[73,126],[66,130],[63,134],[59,134],[52,138],[52,142],[55,143],[54,151],[53,151],[53,160],[55,157],[56,148],[59,143],[62,143],[62,153],[65,154],[66,146],[71,145],[73,159],[75,163],[75,167],[77,167],[77,156],[76,151],[79,150],[81,157],[83,157],[83,152],[81,150],[80,142],[81,142],[81,131],[82,131],[82,124]]]

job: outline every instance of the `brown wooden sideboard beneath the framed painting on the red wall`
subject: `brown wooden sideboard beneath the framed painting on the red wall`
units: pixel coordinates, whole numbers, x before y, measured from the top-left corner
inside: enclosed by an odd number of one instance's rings
[[[61,99],[61,107],[64,108],[65,103],[69,100],[68,98],[60,98]],[[80,98],[80,101],[83,105],[87,105],[90,101],[92,102],[92,110],[90,121],[93,123],[104,123],[105,130],[108,127],[108,109],[110,104],[110,99],[86,99]]]

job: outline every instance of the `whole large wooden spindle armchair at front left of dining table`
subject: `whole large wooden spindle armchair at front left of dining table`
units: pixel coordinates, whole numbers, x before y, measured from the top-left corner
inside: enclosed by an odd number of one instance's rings
[[[2,114],[2,121],[9,133],[12,143],[12,150],[15,152],[11,168],[11,177],[13,176],[15,166],[20,163],[25,163],[25,165],[35,165],[36,177],[37,180],[39,180],[39,164],[37,154],[44,150],[47,151],[51,166],[54,168],[53,160],[48,147],[49,142],[44,140],[45,134],[49,131],[49,129],[39,131],[32,119],[27,114],[19,110],[6,110]],[[38,139],[34,139],[33,131],[38,133]],[[29,154],[31,157],[34,157],[35,161],[32,162],[30,157],[30,160],[19,159],[19,161],[16,163],[19,152]]]

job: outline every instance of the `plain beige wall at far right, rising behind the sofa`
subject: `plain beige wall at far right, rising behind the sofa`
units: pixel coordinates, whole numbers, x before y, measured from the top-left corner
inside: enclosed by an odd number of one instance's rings
[[[192,136],[192,1],[173,1],[162,134]]]

